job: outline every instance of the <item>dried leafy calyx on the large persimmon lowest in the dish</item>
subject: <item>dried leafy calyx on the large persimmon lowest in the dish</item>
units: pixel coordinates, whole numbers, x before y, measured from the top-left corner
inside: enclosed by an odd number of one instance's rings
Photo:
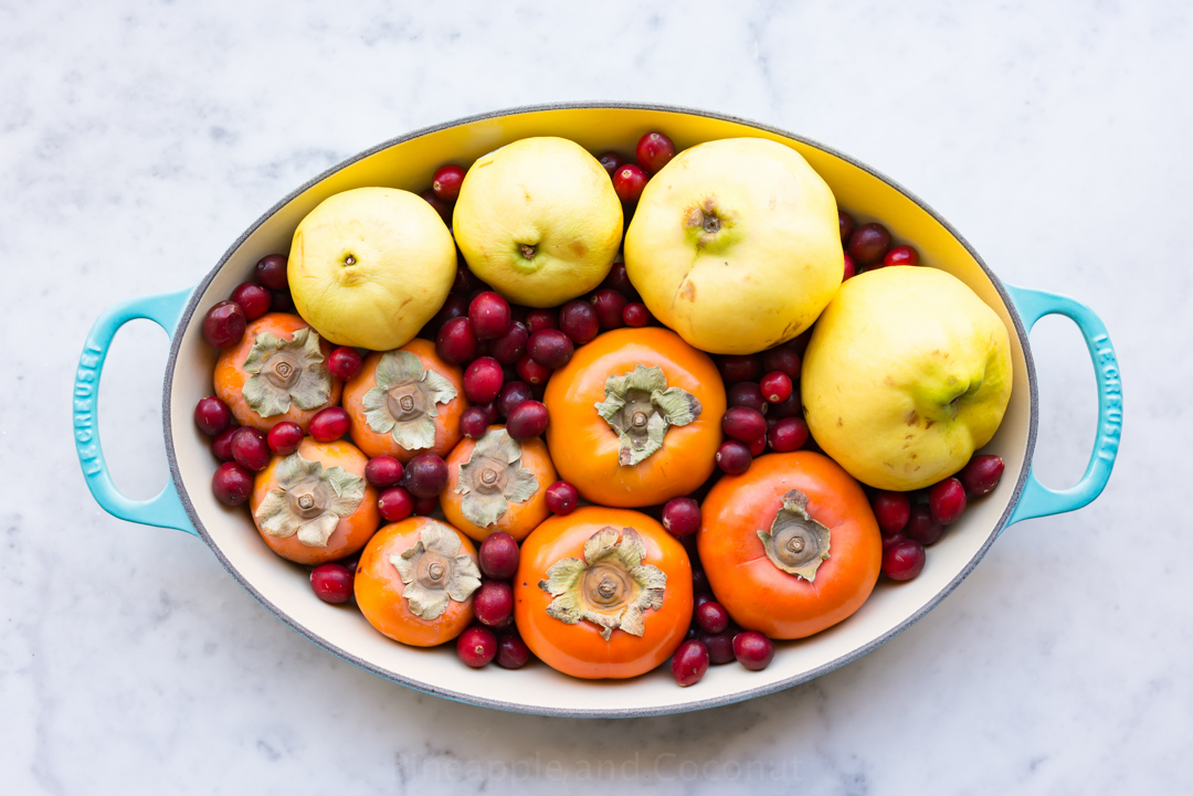
[[[554,597],[546,615],[565,624],[588,620],[606,641],[617,629],[641,636],[643,612],[662,608],[667,589],[667,573],[643,564],[645,554],[642,536],[632,528],[620,533],[612,526],[601,528],[585,542],[583,560],[561,559],[538,582]]]

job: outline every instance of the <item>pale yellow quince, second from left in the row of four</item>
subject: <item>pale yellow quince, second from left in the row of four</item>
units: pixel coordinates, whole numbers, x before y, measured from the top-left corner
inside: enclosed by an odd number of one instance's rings
[[[608,172],[567,138],[523,138],[464,175],[452,217],[469,268],[511,301],[555,306],[608,275],[622,203]],[[536,248],[527,261],[523,245]]]

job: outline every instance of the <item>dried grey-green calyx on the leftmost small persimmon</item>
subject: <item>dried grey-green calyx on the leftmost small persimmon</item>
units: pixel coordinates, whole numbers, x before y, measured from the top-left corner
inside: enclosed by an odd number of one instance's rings
[[[262,331],[245,357],[249,377],[241,387],[248,408],[261,417],[319,409],[332,397],[332,372],[319,347],[319,332],[299,329],[289,340]]]

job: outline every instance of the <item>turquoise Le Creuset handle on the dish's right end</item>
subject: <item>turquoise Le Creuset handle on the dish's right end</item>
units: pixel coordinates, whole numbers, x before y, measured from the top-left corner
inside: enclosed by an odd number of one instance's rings
[[[1013,526],[1022,520],[1074,511],[1102,493],[1106,481],[1109,480],[1111,469],[1114,468],[1123,431],[1123,383],[1114,347],[1106,334],[1106,324],[1093,310],[1081,301],[1056,293],[1010,285],[1007,285],[1007,291],[1028,332],[1036,322],[1046,315],[1063,315],[1076,323],[1086,338],[1086,347],[1094,360],[1094,373],[1098,377],[1098,435],[1094,439],[1094,452],[1089,456],[1086,474],[1071,489],[1050,490],[1040,484],[1034,471],[1028,471],[1024,492],[1007,523]]]

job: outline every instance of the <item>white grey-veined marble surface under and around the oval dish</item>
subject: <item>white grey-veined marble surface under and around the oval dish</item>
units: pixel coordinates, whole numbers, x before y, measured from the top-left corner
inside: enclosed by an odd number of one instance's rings
[[[1193,788],[1187,5],[567,7],[0,4],[4,792]],[[925,197],[1007,281],[1095,307],[1126,385],[1106,493],[1010,529],[853,665],[746,704],[600,722],[382,682],[286,629],[196,539],[97,508],[68,393],[103,307],[193,284],[360,149],[576,99],[826,142]],[[1088,455],[1093,371],[1063,321],[1033,347],[1038,468],[1064,485]],[[165,336],[132,324],[101,388],[109,462],[135,497],[165,479]]]

